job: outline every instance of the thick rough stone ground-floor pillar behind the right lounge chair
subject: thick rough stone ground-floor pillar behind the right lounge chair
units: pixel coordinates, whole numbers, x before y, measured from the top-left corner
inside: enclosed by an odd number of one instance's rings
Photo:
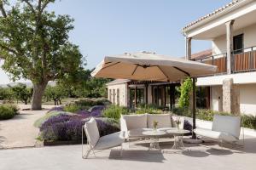
[[[240,92],[238,85],[233,83],[233,78],[223,81],[223,111],[233,115],[240,114]]]

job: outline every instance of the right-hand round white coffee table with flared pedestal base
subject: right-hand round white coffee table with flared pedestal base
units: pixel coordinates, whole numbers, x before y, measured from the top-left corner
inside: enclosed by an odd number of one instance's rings
[[[184,130],[184,129],[172,129],[172,130],[167,130],[166,133],[172,134],[174,137],[174,143],[172,145],[172,150],[183,150],[185,148],[183,144],[183,135],[186,133],[190,133],[189,130]]]

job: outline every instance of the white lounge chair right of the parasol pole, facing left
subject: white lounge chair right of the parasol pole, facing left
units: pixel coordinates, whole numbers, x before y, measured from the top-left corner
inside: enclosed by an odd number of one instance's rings
[[[241,132],[241,117],[214,115],[212,130],[196,128],[194,132],[199,136],[218,140],[221,146],[224,142],[237,144]]]

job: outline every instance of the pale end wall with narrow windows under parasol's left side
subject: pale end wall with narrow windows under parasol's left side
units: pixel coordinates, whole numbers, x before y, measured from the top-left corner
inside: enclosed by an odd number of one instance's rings
[[[120,83],[120,84],[110,84],[108,85],[108,93],[109,89],[111,89],[111,98],[109,99],[112,103],[117,104],[117,89],[119,89],[119,105],[127,106],[127,84],[126,83]],[[113,94],[113,89],[115,89],[115,94]],[[115,95],[113,102],[113,95]],[[108,94],[109,96],[109,94]]]

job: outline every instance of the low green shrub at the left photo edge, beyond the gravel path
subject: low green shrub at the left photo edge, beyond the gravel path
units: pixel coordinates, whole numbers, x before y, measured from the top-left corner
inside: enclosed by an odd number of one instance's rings
[[[0,120],[11,119],[19,114],[19,109],[15,105],[0,105]]]

